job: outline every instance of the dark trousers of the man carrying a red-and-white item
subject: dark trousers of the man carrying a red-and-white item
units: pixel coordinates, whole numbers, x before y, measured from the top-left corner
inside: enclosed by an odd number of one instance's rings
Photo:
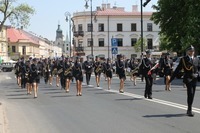
[[[152,96],[153,78],[151,76],[145,76],[145,82],[145,96]]]

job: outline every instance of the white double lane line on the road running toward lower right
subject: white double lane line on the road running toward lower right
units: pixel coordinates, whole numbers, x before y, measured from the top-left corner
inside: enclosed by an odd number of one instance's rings
[[[146,101],[149,101],[149,102],[159,103],[159,104],[162,104],[162,105],[167,105],[167,106],[170,106],[170,107],[175,107],[175,108],[187,110],[187,106],[182,105],[182,104],[178,104],[178,103],[173,103],[173,102],[160,100],[160,99],[156,99],[156,98],[146,99],[141,95],[137,95],[137,94],[133,94],[133,93],[129,93],[129,92],[119,93],[117,90],[105,90],[105,91],[121,94],[121,95],[124,95],[124,96],[129,96],[129,97],[133,97],[133,98],[140,98],[140,99],[143,99],[143,100],[146,100]],[[193,107],[192,111],[195,112],[195,113],[200,114],[200,109],[199,108]]]

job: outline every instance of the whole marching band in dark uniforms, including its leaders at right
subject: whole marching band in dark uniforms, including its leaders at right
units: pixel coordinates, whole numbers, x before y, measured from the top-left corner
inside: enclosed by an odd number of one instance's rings
[[[164,76],[165,90],[171,91],[171,82],[179,73],[184,70],[183,82],[187,87],[188,97],[188,116],[193,116],[192,103],[196,90],[198,74],[198,64],[196,65],[194,58],[194,47],[190,46],[186,50],[187,55],[184,56],[172,71],[172,62],[169,53],[166,53],[159,61],[155,61],[151,57],[151,52],[146,51],[145,56],[141,56],[140,61],[136,58],[125,59],[121,54],[117,55],[115,61],[110,58],[101,59],[99,56],[95,60],[91,56],[87,56],[86,61],[82,61],[80,57],[69,58],[60,57],[56,59],[32,59],[25,60],[23,57],[15,65],[15,74],[17,84],[21,88],[26,88],[27,94],[34,92],[34,98],[37,98],[38,84],[43,78],[45,84],[52,85],[53,79],[56,78],[56,86],[64,89],[66,93],[70,91],[70,84],[76,81],[77,96],[82,96],[82,82],[85,75],[86,84],[90,85],[91,74],[94,73],[96,86],[100,86],[100,77],[103,74],[107,81],[108,88],[111,89],[111,81],[113,73],[120,80],[119,93],[124,93],[124,81],[127,72],[130,80],[136,86],[136,77],[141,76],[145,79],[144,97],[152,99],[152,86],[157,73]]]

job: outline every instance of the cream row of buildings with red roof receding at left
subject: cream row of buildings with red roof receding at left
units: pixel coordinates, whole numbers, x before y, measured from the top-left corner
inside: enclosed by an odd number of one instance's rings
[[[7,26],[7,53],[10,59],[20,57],[54,58],[62,55],[62,48],[32,32]],[[8,60],[7,60],[8,61]]]

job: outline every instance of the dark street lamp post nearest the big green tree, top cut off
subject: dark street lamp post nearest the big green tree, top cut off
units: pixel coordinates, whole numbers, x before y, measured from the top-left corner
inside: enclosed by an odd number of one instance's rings
[[[141,4],[141,54],[143,52],[143,7],[145,7],[151,0],[146,0],[143,3],[143,0],[140,0]]]

